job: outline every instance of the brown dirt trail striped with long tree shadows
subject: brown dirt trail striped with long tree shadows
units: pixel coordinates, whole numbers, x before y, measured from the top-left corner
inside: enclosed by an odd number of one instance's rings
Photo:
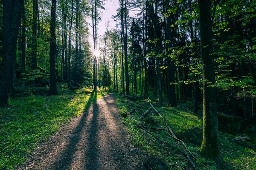
[[[41,143],[18,169],[149,169],[142,151],[131,152],[133,146],[118,115],[114,94],[103,96]]]

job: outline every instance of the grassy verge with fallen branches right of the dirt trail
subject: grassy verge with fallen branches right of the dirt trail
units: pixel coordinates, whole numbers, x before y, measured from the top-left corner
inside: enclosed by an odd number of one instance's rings
[[[127,126],[128,132],[131,135],[131,141],[135,146],[141,147],[145,153],[157,156],[159,159],[167,162],[169,167],[173,170],[192,169],[189,161],[187,161],[183,155],[183,152],[178,147],[175,139],[166,135],[162,130],[155,130],[146,126],[147,124],[152,127],[165,128],[160,116],[154,113],[154,111],[151,111],[147,118],[142,122],[139,121],[141,114],[149,107],[148,101],[139,101],[138,103],[141,105],[132,102],[132,105],[130,105],[130,102],[125,97],[116,95],[116,99],[120,114],[129,113],[131,111],[132,119],[122,117],[122,121]],[[209,167],[211,170],[256,169],[256,150],[230,142],[229,139],[234,139],[239,136],[234,136],[228,133],[219,132],[222,158],[222,163],[220,165],[217,166],[214,161],[208,160],[202,156],[199,149],[202,141],[203,122],[200,116],[193,114],[186,108],[189,108],[189,105],[180,104],[177,108],[171,108],[172,111],[167,110],[170,108],[165,107],[157,108],[157,110],[160,111],[162,116],[166,119],[177,138],[183,140],[188,149],[198,159],[194,159],[197,169],[207,169],[202,164]],[[145,127],[146,130],[162,141],[172,144],[175,149],[161,143],[158,139],[146,133],[145,130],[139,128],[138,124]],[[241,141],[241,143],[250,145],[250,142],[248,141]],[[156,169],[161,168],[161,166],[156,167]]]

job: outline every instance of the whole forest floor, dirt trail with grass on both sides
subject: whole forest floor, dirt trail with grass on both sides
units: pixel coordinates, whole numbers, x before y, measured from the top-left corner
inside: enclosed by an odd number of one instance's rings
[[[154,110],[140,119],[150,102],[195,156],[196,169],[256,170],[254,122],[219,111],[222,162],[216,165],[200,153],[202,105],[194,114],[189,100],[160,108],[151,96],[131,99],[100,89],[71,91],[64,85],[59,85],[59,95],[47,96],[48,91],[17,88],[9,106],[0,108],[0,170],[192,170]],[[245,136],[250,139],[230,141]]]

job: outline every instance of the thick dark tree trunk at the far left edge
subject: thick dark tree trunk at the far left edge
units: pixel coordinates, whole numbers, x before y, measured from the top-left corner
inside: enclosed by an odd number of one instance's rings
[[[0,78],[0,107],[8,104],[13,83],[13,66],[16,63],[16,45],[24,0],[3,1],[3,72]]]

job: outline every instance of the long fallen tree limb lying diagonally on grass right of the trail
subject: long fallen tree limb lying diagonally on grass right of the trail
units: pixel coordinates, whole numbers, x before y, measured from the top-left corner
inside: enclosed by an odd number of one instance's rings
[[[165,123],[165,125],[166,125],[167,129],[169,130],[169,132],[172,133],[171,136],[174,137],[174,138],[177,140],[176,135],[173,133],[172,129],[170,128],[170,126],[168,125],[168,123],[166,122],[166,120],[163,118],[163,116],[157,111],[156,108],[154,108],[154,106],[153,106],[151,103],[150,103],[150,105],[151,105],[151,107],[154,109],[154,111],[157,112],[158,115],[161,117],[161,119],[162,119],[163,122]],[[180,139],[177,140],[177,142],[178,142],[178,144],[179,144],[180,147],[181,147],[181,143],[182,143],[183,145],[185,145],[183,141],[182,141],[182,142],[180,142],[180,141],[181,141]],[[187,149],[186,145],[185,145],[184,147]],[[182,147],[181,147],[181,148],[182,148]],[[189,162],[190,162],[190,164],[192,165],[192,167],[196,170],[196,166],[195,166],[193,160],[191,159],[191,157],[187,154],[186,150],[185,150],[184,148],[182,148],[182,151],[183,151],[184,155],[186,156],[186,158],[189,160]],[[190,152],[190,151],[189,151],[189,152]],[[191,153],[191,152],[190,152],[190,153]],[[193,157],[195,157],[195,156],[193,156]]]

